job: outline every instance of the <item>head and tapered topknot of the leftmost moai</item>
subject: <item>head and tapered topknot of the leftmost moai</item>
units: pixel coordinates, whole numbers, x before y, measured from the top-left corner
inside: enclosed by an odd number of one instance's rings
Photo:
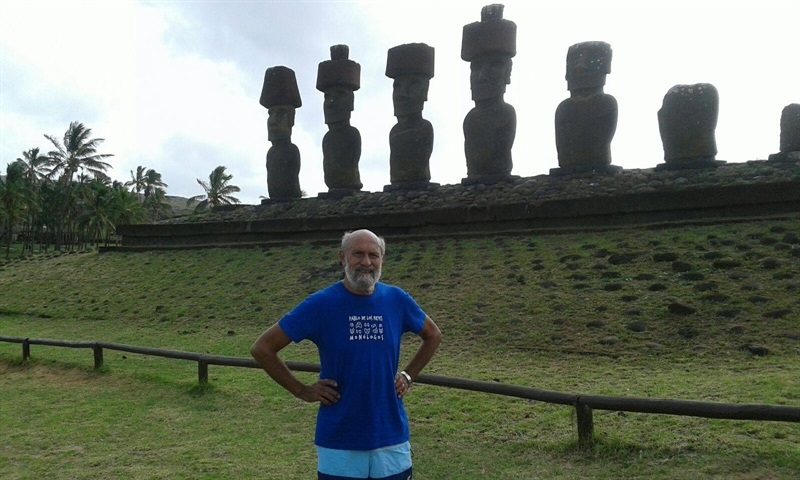
[[[283,66],[268,68],[264,72],[259,103],[269,112],[267,120],[269,141],[290,140],[295,109],[303,105],[294,70]]]

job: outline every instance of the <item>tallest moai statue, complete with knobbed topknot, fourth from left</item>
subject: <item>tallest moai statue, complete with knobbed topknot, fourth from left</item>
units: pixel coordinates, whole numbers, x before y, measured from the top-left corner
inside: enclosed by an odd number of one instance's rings
[[[470,62],[475,108],[464,118],[464,185],[509,181],[517,113],[503,100],[517,53],[517,25],[503,19],[503,5],[483,7],[481,21],[464,25],[461,58]]]

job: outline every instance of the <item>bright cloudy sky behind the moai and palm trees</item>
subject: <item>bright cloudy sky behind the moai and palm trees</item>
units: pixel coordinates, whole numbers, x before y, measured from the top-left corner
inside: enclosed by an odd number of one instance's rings
[[[350,46],[361,64],[351,124],[362,137],[365,191],[389,183],[392,80],[386,52],[404,43],[436,50],[423,116],[434,127],[432,181],[466,176],[462,122],[474,106],[465,24],[482,1],[91,1],[0,0],[0,167],[22,152],[52,149],[71,121],[104,138],[115,180],[142,165],[167,193],[202,194],[196,179],[218,165],[243,203],[267,196],[267,111],[258,103],[264,71],[295,70],[303,106],[292,142],[300,186],[328,190],[322,174],[327,132],[317,65],[330,46]],[[766,159],[779,150],[781,110],[800,103],[800,1],[505,1],[517,24],[517,55],[506,102],[517,112],[514,170],[558,167],[554,114],[569,96],[570,45],[611,44],[605,93],[619,104],[612,163],[663,162],[657,111],[670,87],[711,83],[720,95],[718,160]]]

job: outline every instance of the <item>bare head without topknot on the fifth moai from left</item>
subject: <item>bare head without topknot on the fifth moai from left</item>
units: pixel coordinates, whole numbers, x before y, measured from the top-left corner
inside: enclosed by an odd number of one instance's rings
[[[576,43],[567,50],[567,89],[570,92],[596,90],[611,73],[611,45],[605,42]]]

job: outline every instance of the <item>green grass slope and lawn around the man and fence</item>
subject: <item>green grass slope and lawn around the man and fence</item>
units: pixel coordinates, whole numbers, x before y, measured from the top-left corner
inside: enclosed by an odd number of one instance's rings
[[[445,334],[426,373],[599,395],[800,405],[800,219],[389,239],[384,280]],[[0,263],[0,335],[247,357],[340,278],[335,242]],[[657,255],[658,254],[658,255]],[[673,304],[693,313],[674,313]],[[670,305],[673,305],[672,310]],[[414,339],[408,338],[404,355]],[[757,345],[765,356],[743,349]],[[0,478],[313,478],[315,407],[254,369],[0,343]],[[285,358],[316,362],[312,345]],[[311,380],[313,375],[300,374]],[[416,479],[790,479],[800,425],[594,412],[418,385]]]

